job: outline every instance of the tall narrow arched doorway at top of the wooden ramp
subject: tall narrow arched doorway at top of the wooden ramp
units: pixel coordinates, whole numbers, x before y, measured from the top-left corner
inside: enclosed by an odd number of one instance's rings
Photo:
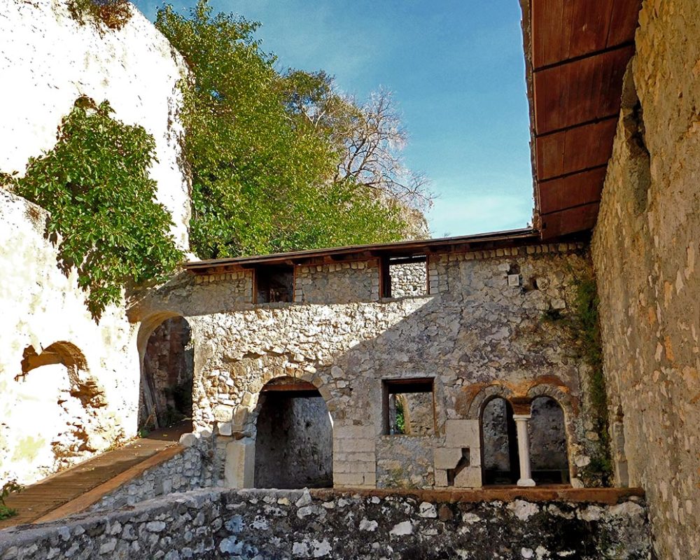
[[[139,430],[192,431],[194,353],[190,325],[167,318],[146,342],[139,395]],[[175,434],[176,438],[178,434]]]

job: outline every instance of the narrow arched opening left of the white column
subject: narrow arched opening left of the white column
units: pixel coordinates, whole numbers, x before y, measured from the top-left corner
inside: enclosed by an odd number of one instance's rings
[[[479,423],[482,431],[483,484],[515,484],[520,476],[513,407],[505,398],[486,402]]]

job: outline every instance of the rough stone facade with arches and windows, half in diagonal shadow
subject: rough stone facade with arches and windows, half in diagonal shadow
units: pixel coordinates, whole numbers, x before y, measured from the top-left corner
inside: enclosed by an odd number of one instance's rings
[[[329,269],[325,297],[344,301],[339,274],[364,273],[366,287],[375,272]],[[520,285],[508,286],[508,274],[519,274]],[[573,244],[454,253],[431,260],[434,290],[426,297],[379,302],[375,291],[374,301],[262,306],[218,299],[229,293],[225,274],[207,283],[185,275],[132,313],[167,310],[193,329],[193,416],[195,429],[216,435],[214,479],[253,485],[258,395],[267,381],[288,376],[311,381],[328,405],[336,486],[445,486],[465,448],[470,464],[455,484],[479,486],[481,403],[540,394],[567,412],[571,475],[580,484],[577,473],[597,445],[587,438],[586,367],[570,330],[545,320],[545,311],[570,312],[575,276],[585,274],[587,254]],[[410,377],[435,379],[436,433],[384,435],[381,380]],[[416,467],[418,448],[425,464]]]

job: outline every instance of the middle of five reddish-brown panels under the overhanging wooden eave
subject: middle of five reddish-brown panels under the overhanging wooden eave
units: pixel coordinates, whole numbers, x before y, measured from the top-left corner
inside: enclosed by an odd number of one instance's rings
[[[535,139],[538,180],[552,179],[608,162],[617,118]]]

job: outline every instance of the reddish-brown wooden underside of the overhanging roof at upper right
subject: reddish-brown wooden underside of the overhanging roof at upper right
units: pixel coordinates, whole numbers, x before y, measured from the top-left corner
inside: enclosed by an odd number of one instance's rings
[[[524,0],[535,228],[596,223],[641,0]]]

